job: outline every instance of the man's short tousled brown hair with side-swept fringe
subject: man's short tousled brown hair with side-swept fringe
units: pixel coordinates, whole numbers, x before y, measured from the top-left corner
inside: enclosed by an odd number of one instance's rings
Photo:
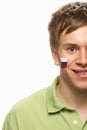
[[[53,13],[48,24],[50,45],[58,48],[61,33],[66,29],[69,34],[87,25],[87,2],[69,3]]]

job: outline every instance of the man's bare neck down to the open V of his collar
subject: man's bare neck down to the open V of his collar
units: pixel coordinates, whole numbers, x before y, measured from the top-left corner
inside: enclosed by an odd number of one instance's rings
[[[77,111],[81,121],[85,122],[87,118],[87,91],[83,93],[70,91],[58,85],[57,97],[65,106]]]

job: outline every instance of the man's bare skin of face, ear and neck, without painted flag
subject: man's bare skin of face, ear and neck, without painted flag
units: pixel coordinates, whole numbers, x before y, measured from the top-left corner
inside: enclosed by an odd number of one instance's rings
[[[60,68],[57,96],[65,105],[75,109],[82,122],[87,116],[87,26],[60,37],[58,51],[51,48],[55,65],[60,58],[68,60],[66,68]]]

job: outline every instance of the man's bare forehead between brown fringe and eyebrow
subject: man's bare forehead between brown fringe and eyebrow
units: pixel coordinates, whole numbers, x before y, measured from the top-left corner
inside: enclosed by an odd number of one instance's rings
[[[60,36],[60,44],[65,43],[87,43],[87,25],[66,34],[65,29]]]

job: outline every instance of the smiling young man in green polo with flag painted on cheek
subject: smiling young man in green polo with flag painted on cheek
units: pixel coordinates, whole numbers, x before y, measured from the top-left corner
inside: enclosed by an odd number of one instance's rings
[[[60,76],[17,103],[3,130],[87,130],[87,2],[60,8],[48,30]]]

